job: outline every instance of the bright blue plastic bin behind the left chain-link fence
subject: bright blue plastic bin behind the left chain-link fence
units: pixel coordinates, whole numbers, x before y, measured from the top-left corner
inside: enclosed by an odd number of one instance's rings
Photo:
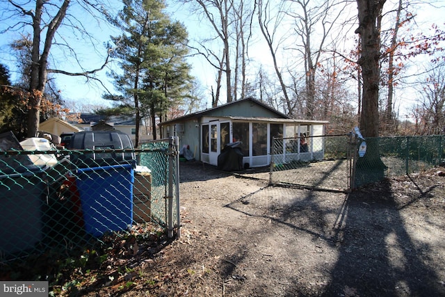
[[[133,220],[133,182],[129,164],[77,169],[76,185],[88,234],[127,230]]]

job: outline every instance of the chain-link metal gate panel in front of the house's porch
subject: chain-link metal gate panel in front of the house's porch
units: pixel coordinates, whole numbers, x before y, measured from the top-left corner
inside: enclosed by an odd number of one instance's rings
[[[273,138],[269,184],[349,192],[356,148],[353,134]]]

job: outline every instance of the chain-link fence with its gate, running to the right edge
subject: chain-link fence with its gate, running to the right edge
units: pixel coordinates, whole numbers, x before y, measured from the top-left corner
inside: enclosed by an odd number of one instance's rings
[[[444,166],[444,141],[445,136],[359,140],[353,134],[274,138],[270,184],[347,192],[387,177]],[[360,147],[365,149],[362,156]]]

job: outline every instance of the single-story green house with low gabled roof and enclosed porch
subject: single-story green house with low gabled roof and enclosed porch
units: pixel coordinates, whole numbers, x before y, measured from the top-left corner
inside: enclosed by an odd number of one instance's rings
[[[246,98],[204,111],[161,122],[164,136],[178,136],[179,146],[189,147],[197,161],[218,166],[218,156],[228,143],[241,141],[245,167],[270,165],[273,137],[305,136],[304,149],[284,141],[286,161],[323,159],[323,141],[310,142],[312,136],[323,136],[326,121],[294,120],[254,98]],[[289,159],[289,157],[291,159]]]

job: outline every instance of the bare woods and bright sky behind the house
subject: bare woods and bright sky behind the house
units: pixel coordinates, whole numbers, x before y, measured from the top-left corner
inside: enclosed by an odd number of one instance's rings
[[[361,123],[365,135],[376,122],[379,135],[444,134],[444,4],[2,0],[1,131],[31,136],[38,122],[74,111],[156,127],[255,97],[291,118],[328,120],[331,134],[370,108],[377,121]],[[365,22],[378,33],[371,107]]]

